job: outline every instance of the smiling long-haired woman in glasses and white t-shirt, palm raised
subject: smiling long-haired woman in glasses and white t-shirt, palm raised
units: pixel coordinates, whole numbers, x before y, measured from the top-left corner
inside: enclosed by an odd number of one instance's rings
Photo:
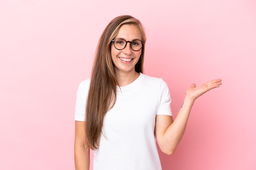
[[[143,74],[146,36],[139,20],[113,19],[103,31],[92,76],[80,83],[75,113],[75,166],[89,170],[161,170],[162,152],[177,148],[196,98],[219,87],[221,79],[186,90],[173,121],[171,97],[161,78]]]

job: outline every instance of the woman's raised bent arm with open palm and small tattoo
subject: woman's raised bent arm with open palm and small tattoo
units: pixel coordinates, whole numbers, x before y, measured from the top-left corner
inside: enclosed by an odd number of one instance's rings
[[[168,155],[173,154],[185,132],[189,113],[195,100],[209,90],[219,87],[221,84],[221,79],[208,81],[198,87],[192,84],[191,87],[186,90],[182,107],[174,121],[172,116],[156,116],[155,134],[157,143],[162,152]]]

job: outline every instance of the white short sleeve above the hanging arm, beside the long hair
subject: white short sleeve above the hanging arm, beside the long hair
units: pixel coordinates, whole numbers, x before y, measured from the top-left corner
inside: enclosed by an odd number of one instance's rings
[[[85,121],[85,105],[88,96],[90,79],[82,81],[76,92],[75,116],[76,121]]]

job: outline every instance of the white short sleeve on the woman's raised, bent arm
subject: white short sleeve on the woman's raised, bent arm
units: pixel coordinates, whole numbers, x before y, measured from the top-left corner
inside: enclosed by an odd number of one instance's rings
[[[157,115],[173,116],[171,112],[171,95],[168,85],[161,79],[160,81],[160,106]]]

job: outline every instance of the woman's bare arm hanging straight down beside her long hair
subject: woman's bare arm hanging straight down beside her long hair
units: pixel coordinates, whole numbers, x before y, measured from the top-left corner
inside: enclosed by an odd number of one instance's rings
[[[85,142],[85,122],[75,121],[74,159],[76,170],[89,170],[90,148]]]

